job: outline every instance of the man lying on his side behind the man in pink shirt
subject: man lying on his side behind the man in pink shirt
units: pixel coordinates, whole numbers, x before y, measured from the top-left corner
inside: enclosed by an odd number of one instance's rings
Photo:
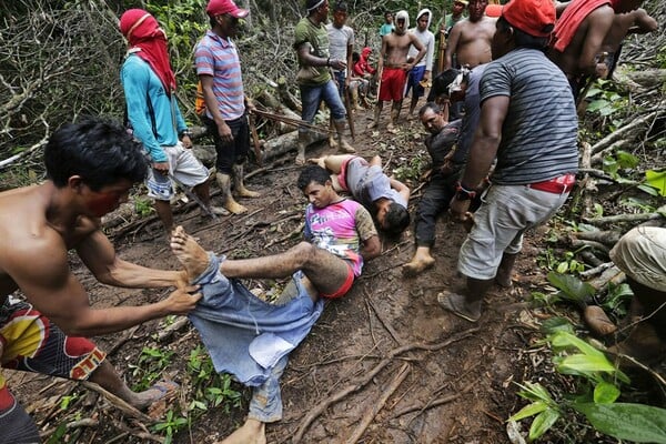
[[[325,155],[309,159],[333,174],[336,191],[346,191],[370,211],[377,226],[387,234],[400,235],[410,226],[410,188],[389,178],[382,171],[382,159],[375,155],[367,162],[357,155]]]

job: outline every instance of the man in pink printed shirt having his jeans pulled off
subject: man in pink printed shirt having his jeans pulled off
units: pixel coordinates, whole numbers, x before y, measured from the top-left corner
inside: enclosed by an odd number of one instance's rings
[[[342,297],[361,274],[363,261],[381,252],[367,211],[340,196],[329,172],[309,165],[299,188],[310,200],[304,236],[284,253],[225,260],[206,253],[182,228],[171,238],[173,253],[203,300],[190,313],[218,372],[253,387],[245,424],[224,444],[265,443],[265,423],[282,418],[280,377],[289,353],[307,335],[324,299]],[[274,303],[252,294],[240,281],[292,276]]]

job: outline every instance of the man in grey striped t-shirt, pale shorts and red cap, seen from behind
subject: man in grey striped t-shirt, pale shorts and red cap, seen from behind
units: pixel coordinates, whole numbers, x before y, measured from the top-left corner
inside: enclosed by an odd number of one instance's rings
[[[480,125],[451,201],[454,219],[472,216],[474,190],[495,158],[497,164],[461,246],[458,271],[466,286],[437,295],[445,310],[470,322],[481,317],[494,282],[512,284],[523,233],[564,204],[578,170],[574,98],[564,73],[544,54],[554,24],[552,0],[512,0],[497,20],[493,61],[480,84]]]

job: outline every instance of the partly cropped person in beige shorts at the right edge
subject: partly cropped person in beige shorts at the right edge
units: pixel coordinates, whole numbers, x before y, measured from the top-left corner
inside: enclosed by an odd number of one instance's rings
[[[666,352],[666,229],[630,230],[610,250],[610,260],[627,276],[634,292],[630,314],[639,322],[626,340],[608,351],[647,364],[663,361]]]

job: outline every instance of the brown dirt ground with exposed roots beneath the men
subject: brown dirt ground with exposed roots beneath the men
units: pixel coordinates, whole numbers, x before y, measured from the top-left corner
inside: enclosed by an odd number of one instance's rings
[[[387,112],[385,109],[383,119]],[[424,133],[416,119],[405,121],[397,135],[366,131],[369,122],[365,113],[356,114],[355,147],[364,157],[381,154],[389,163],[386,172],[408,164],[418,152],[423,155]],[[327,152],[327,145],[321,143],[311,147],[309,155]],[[232,258],[287,249],[299,240],[289,234],[300,230],[306,203],[295,186],[299,168],[291,163],[295,153],[289,155],[290,162],[248,181],[262,196],[242,202],[249,208],[246,214],[222,218],[219,223],[202,222],[198,210],[190,208],[176,214],[176,222],[204,248]],[[417,190],[410,203],[412,214],[420,194]],[[414,279],[401,273],[401,265],[413,253],[412,229],[398,241],[384,240],[383,254],[366,263],[363,276],[345,297],[327,303],[310,336],[292,353],[282,379],[284,418],[268,426],[269,442],[507,443],[505,421],[524,405],[512,382],[529,379],[535,365],[528,350],[534,329],[525,322],[529,319],[525,301],[531,290],[545,283],[536,265],[543,232],[528,236],[514,287],[494,289],[476,324],[447,314],[436,302],[438,291],[463,283],[456,275],[457,251],[465,235],[460,225],[442,218],[434,249],[436,264]],[[178,268],[155,220],[113,240],[125,260]],[[74,256],[72,266],[98,306],[139,304],[165,294],[100,285]],[[130,335],[99,337],[98,342],[111,351],[111,361],[132,381],[132,364],[161,330],[162,324],[154,321]],[[198,345],[190,325],[160,343],[176,352],[170,375],[175,381],[182,382],[184,361]],[[81,390],[78,384],[47,376],[17,373],[11,380],[14,393],[30,406],[46,436],[58,425],[61,396]],[[192,401],[185,387],[180,395],[182,402]],[[135,432],[140,426],[133,420],[95,396],[88,395],[78,406],[99,423],[74,442],[150,442]],[[244,390],[240,408],[210,410],[174,442],[213,443],[224,437],[244,421],[249,397],[250,391]]]

